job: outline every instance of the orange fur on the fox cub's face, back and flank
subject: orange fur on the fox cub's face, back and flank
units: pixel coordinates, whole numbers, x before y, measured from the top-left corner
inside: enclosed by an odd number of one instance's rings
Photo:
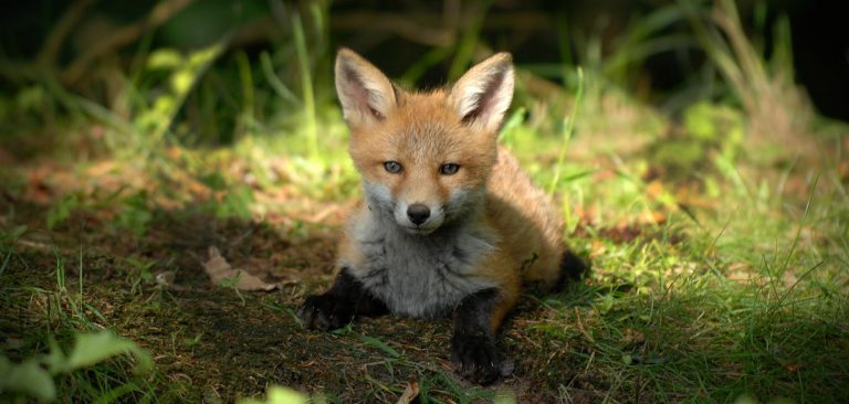
[[[474,275],[492,280],[501,290],[502,299],[491,318],[493,330],[497,329],[514,306],[523,281],[551,286],[557,280],[565,251],[557,210],[516,159],[496,145],[497,125],[463,121],[457,107],[462,102],[460,95],[450,89],[405,92],[353,52],[343,50],[339,55],[347,63],[360,64],[360,72],[366,73],[359,78],[380,96],[338,88],[340,94],[348,92],[353,97],[373,100],[370,111],[343,103],[352,129],[350,156],[366,182],[385,185],[394,199],[432,205],[446,204],[458,189],[485,184],[485,205],[475,220],[497,243],[494,252],[478,263]],[[502,59],[510,62],[509,56]],[[468,79],[474,79],[475,74],[471,71]],[[387,160],[399,161],[403,171],[387,172]],[[459,163],[461,170],[440,176],[439,167],[447,162]],[[364,205],[357,215],[368,214],[368,209]],[[356,266],[363,261],[349,240],[343,242],[340,254],[342,263]]]

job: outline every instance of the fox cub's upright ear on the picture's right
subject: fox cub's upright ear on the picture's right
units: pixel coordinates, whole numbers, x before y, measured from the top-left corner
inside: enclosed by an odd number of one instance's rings
[[[467,72],[451,88],[451,105],[463,123],[495,131],[513,99],[510,53],[497,53]]]

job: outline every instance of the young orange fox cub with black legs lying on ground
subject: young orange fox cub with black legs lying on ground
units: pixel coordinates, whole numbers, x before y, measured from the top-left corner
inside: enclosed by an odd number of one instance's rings
[[[300,310],[331,330],[358,316],[453,313],[452,358],[476,383],[500,375],[495,334],[523,283],[554,286],[572,262],[547,195],[496,145],[513,97],[499,53],[450,89],[407,92],[350,50],[336,91],[365,201],[340,242],[328,291]]]

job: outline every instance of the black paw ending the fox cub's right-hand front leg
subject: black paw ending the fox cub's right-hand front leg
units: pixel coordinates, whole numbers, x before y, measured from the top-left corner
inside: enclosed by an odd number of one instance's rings
[[[484,385],[499,379],[501,361],[493,337],[484,333],[454,334],[451,350],[463,379]]]

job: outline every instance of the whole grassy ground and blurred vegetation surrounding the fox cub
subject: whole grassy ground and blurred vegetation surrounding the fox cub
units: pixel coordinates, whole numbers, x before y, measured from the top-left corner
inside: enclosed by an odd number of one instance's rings
[[[574,295],[514,320],[506,343],[524,373],[505,389],[520,402],[849,400],[837,2],[0,6],[0,398],[197,402],[282,383],[394,401],[408,373],[421,402],[495,397],[430,362],[444,352],[401,349],[398,333],[429,326],[289,338],[304,294],[331,279],[359,192],[332,76],[348,46],[410,88],[514,55],[502,142],[562,202],[567,238],[593,262]],[[200,270],[211,245],[285,287],[222,296]],[[214,309],[196,311],[201,298]],[[219,332],[219,318],[239,332]],[[230,366],[219,350],[258,323],[291,362],[248,352],[247,366],[216,373]],[[298,373],[336,339],[350,362]],[[146,350],[157,370],[143,378],[130,370],[150,372]],[[370,374],[365,355],[407,373]]]

